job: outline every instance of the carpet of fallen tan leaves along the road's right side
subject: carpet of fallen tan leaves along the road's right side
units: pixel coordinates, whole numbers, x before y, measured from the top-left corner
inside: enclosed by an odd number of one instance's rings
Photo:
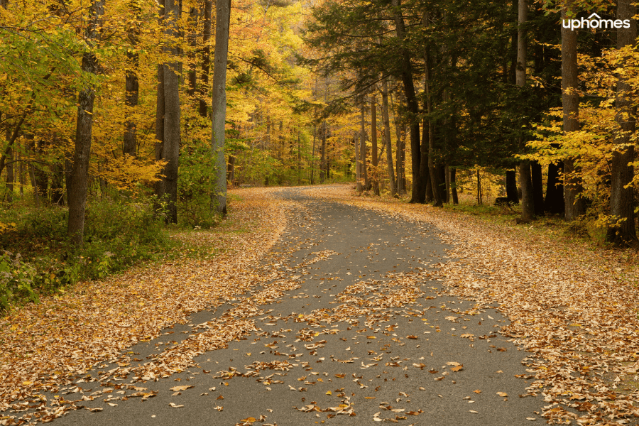
[[[444,285],[496,303],[510,318],[502,333],[531,353],[523,361],[536,379],[528,393],[542,395],[551,423],[624,425],[639,417],[639,391],[624,384],[638,378],[638,280],[621,256],[580,246],[559,253],[542,235],[531,241],[466,214],[356,197],[346,186],[306,192],[442,230],[454,246],[440,269]]]

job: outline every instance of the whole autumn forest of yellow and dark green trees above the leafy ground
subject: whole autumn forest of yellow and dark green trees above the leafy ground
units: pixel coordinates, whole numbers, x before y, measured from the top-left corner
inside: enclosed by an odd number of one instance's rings
[[[496,202],[635,246],[634,16],[626,0],[1,0],[0,308],[170,252],[241,187]]]

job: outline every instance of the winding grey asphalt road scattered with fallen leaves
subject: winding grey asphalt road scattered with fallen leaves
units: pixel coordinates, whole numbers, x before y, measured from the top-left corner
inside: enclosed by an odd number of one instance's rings
[[[158,381],[112,383],[114,392],[85,403],[104,411],[77,410],[56,424],[544,422],[535,413],[543,401],[518,396],[530,380],[514,377],[526,374],[525,352],[498,334],[508,320],[445,295],[431,276],[435,263],[447,261],[437,229],[310,199],[299,189],[280,195],[297,208],[265,262],[276,262],[287,282],[299,288],[261,306],[266,312],[252,318],[256,331],[197,356],[197,367]],[[198,312],[191,326],[178,324],[130,351],[138,359],[157,355],[169,341],[205,331],[193,324],[224,320],[225,312],[249,296]],[[133,386],[158,393],[144,402],[121,400],[137,392]],[[175,386],[192,388],[172,391]],[[105,388],[99,382],[81,387],[84,395]]]

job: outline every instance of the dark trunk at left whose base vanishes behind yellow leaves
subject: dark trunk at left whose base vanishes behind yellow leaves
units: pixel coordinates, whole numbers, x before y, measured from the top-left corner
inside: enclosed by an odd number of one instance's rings
[[[138,106],[138,93],[140,84],[138,82],[138,67],[140,58],[135,49],[140,43],[140,28],[138,21],[140,19],[140,8],[136,1],[131,1],[129,5],[131,14],[135,21],[129,23],[128,38],[131,48],[126,52],[126,71],[124,72],[124,104],[126,105],[126,130],[124,131],[124,155],[136,156],[136,122],[131,118],[135,107]]]

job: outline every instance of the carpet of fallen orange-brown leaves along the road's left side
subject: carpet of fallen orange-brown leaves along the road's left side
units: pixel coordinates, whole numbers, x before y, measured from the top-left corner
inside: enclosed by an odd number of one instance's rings
[[[285,226],[283,210],[267,192],[235,193],[242,200],[229,214],[234,226],[178,235],[195,246],[225,249],[212,260],[176,256],[159,267],[80,283],[59,299],[45,297],[2,318],[0,421],[8,420],[4,412],[10,403],[35,398],[46,405],[44,391],[70,385],[99,362],[121,359],[127,346],[266,279],[246,272],[247,266],[278,238]],[[57,417],[54,412],[43,410],[40,420]]]

